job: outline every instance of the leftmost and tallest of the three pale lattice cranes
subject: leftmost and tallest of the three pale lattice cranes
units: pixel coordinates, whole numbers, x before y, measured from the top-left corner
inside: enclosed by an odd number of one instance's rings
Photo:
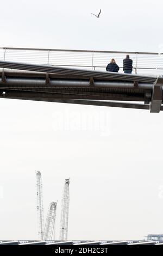
[[[39,239],[43,240],[44,236],[44,219],[43,219],[43,199],[42,199],[42,180],[41,172],[36,172],[36,196],[37,196],[37,221]]]

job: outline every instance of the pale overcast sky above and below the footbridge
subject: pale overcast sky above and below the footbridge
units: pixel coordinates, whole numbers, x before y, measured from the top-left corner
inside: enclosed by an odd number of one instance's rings
[[[158,52],[162,2],[3,1],[0,47]],[[102,9],[100,19],[91,13]],[[0,240],[37,239],[35,170],[45,216],[70,177],[68,239],[163,233],[162,113],[0,100]]]

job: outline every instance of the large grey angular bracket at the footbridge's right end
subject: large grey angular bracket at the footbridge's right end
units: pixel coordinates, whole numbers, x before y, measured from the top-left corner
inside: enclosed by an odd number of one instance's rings
[[[162,86],[163,86],[163,78],[158,77],[156,82],[153,85],[153,95],[151,100],[151,113],[159,113],[162,104]]]

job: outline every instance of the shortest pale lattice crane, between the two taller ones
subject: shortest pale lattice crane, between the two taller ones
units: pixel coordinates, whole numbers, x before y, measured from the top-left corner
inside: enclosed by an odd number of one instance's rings
[[[46,224],[45,224],[45,235],[44,240],[55,240],[55,217],[56,217],[56,210],[57,210],[57,202],[52,202],[49,204],[48,214],[46,217]]]

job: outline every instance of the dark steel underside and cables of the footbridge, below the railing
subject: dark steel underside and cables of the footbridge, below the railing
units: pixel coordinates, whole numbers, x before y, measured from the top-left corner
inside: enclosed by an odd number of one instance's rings
[[[9,62],[0,66],[3,98],[163,110],[160,77]]]

